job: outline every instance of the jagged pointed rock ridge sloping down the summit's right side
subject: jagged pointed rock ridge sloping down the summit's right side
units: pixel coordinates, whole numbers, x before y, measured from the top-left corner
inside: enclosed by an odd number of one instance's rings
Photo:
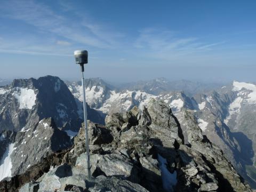
[[[221,190],[249,191],[248,186],[244,184],[243,178],[238,175],[222,150],[211,143],[206,136],[203,136],[202,130],[190,111],[186,111],[185,119],[187,120],[188,141],[191,145],[189,150],[195,150],[202,154],[204,164],[209,166],[211,171],[216,174]],[[191,153],[186,149],[185,151],[187,154]],[[223,179],[220,180],[218,177],[223,177]],[[203,188],[209,187],[204,186]]]

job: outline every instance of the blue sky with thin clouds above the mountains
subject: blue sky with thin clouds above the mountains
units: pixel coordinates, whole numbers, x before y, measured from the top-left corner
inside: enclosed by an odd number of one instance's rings
[[[0,78],[256,81],[255,1],[0,0]]]

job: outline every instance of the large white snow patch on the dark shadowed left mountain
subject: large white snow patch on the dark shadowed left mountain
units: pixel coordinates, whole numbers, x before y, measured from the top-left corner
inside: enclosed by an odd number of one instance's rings
[[[36,94],[33,89],[17,87],[13,95],[19,102],[19,109],[32,109],[36,104]]]

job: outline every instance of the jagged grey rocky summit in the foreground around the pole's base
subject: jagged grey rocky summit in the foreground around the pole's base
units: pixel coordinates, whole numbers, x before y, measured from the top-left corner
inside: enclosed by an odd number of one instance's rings
[[[60,148],[25,173],[4,179],[0,190],[252,191],[223,151],[203,135],[193,113],[186,110],[183,115],[186,145],[178,119],[156,99],[143,110],[134,107],[107,115],[106,126],[89,121],[90,151],[82,126],[72,147]],[[92,179],[87,178],[86,153]]]

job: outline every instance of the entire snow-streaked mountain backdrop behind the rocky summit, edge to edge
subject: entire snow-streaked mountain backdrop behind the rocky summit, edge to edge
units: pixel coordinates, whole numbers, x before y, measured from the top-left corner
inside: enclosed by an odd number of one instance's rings
[[[164,78],[158,78],[148,82],[112,86],[101,78],[91,78],[85,80],[85,86],[88,118],[91,122],[106,125],[104,129],[111,130],[113,142],[122,143],[122,140],[117,139],[120,137],[119,134],[126,134],[126,131],[131,130],[132,126],[137,126],[137,123],[122,126],[126,120],[118,120],[123,122],[118,128],[117,125],[109,123],[115,118],[120,119],[118,115],[108,121],[109,115],[125,114],[126,111],[134,110],[134,107],[147,114],[145,106],[148,107],[152,99],[161,101],[161,105],[171,108],[173,118],[180,127],[182,136],[180,133],[179,136],[175,136],[176,139],[182,140],[180,145],[196,149],[193,139],[191,140],[191,130],[194,126],[191,127],[188,123],[190,118],[194,118],[194,124],[197,124],[199,132],[218,146],[238,173],[252,188],[256,188],[256,85],[237,81],[227,85],[189,81],[169,82]],[[160,116],[161,114],[151,114],[149,119]],[[114,122],[117,122],[117,119]],[[58,77],[45,76],[38,79],[15,79],[11,84],[0,87],[0,179],[10,183],[11,180],[6,180],[6,177],[27,174],[31,167],[38,166],[49,156],[70,149],[75,142],[75,135],[81,131],[82,122],[81,82],[63,82]],[[113,126],[117,127],[116,130]],[[95,127],[92,137],[99,137],[103,132],[108,132],[103,128],[98,129],[98,125]],[[147,137],[152,137],[150,134],[147,133]],[[158,139],[165,146],[164,135]],[[206,143],[211,143],[210,141],[207,140]],[[100,142],[103,142],[102,139]],[[97,142],[94,144],[99,145]],[[156,147],[156,144],[153,146]],[[211,147],[212,151],[213,148]],[[201,148],[196,150],[205,154]],[[214,161],[216,158],[213,157]],[[62,159],[58,159],[58,162],[61,161]],[[178,169],[177,166],[175,169]],[[141,185],[148,185],[144,184]],[[201,185],[202,183],[199,188]]]

